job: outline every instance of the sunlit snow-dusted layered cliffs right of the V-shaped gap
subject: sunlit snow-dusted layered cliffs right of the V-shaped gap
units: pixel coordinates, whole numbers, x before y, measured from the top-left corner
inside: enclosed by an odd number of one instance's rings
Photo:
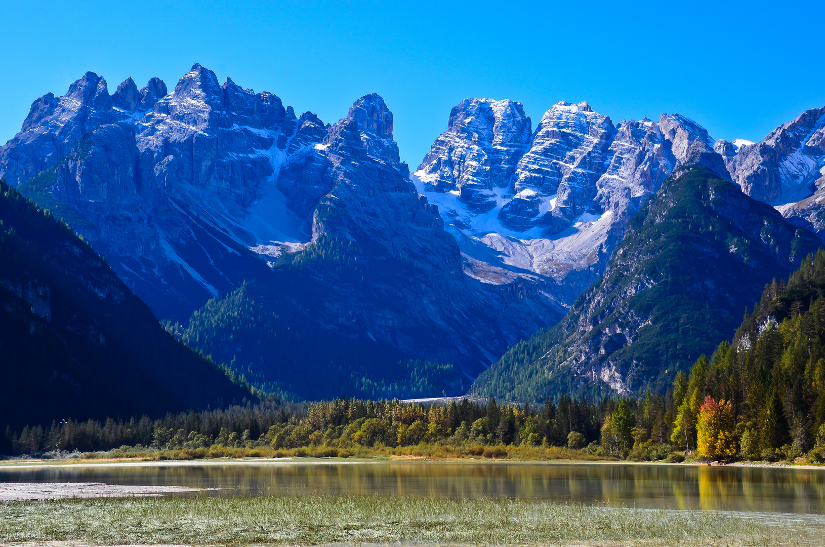
[[[614,125],[586,102],[560,101],[525,146],[529,123],[520,109],[521,116],[479,113],[480,105],[495,111],[501,103],[518,104],[467,99],[455,106],[414,176],[418,190],[439,205],[465,268],[479,278],[490,279],[494,268],[529,271],[556,285],[554,295],[570,304],[601,276],[625,224],[665,177],[691,164],[730,177],[707,131],[685,116]],[[496,164],[515,163],[514,169],[483,168],[488,158],[505,156]],[[486,205],[464,198],[461,184],[483,188]]]

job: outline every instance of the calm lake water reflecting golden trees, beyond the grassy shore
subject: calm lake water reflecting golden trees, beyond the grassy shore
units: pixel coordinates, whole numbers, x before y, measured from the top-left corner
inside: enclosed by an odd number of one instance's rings
[[[0,467],[0,482],[221,488],[214,495],[513,497],[663,509],[825,514],[825,469],[693,465],[243,461]]]

